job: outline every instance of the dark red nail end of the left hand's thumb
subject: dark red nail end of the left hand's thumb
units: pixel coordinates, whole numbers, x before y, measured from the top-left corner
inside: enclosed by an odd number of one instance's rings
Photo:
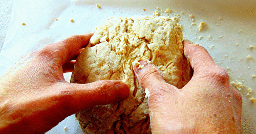
[[[130,94],[130,88],[127,84],[119,83],[115,85],[115,88],[118,91],[118,99],[123,99]]]

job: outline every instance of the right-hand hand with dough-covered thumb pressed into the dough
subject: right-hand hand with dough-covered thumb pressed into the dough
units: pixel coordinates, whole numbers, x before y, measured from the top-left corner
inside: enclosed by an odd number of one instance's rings
[[[229,85],[227,72],[207,50],[184,41],[194,75],[182,88],[167,84],[153,64],[140,61],[135,75],[148,89],[153,133],[241,133],[242,97]]]

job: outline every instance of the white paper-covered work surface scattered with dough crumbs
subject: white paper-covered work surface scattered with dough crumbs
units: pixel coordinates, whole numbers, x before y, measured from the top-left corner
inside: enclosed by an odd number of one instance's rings
[[[3,1],[1,5],[4,5],[0,10],[4,14],[1,15],[0,75],[36,46],[74,34],[94,32],[96,26],[110,16],[153,15],[158,10],[162,16],[179,17],[184,39],[205,47],[214,61],[227,70],[230,82],[240,82],[244,86],[240,91],[243,96],[242,130],[243,133],[256,133],[256,104],[250,101],[251,97],[256,97],[256,78],[253,77],[256,75],[256,1],[24,0]],[[164,13],[166,8],[172,13]],[[189,17],[191,14],[195,18]],[[202,21],[206,27],[199,32],[198,25]],[[70,73],[65,77],[69,81]],[[249,88],[251,97],[247,95]],[[82,132],[72,115],[48,133]]]

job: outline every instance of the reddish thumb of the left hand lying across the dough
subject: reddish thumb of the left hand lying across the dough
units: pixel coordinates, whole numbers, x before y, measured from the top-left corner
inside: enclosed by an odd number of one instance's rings
[[[74,114],[88,106],[105,105],[125,98],[130,93],[129,87],[113,80],[97,81],[89,84],[62,83],[57,85],[58,97],[61,98],[62,109]],[[65,105],[64,105],[65,104]]]

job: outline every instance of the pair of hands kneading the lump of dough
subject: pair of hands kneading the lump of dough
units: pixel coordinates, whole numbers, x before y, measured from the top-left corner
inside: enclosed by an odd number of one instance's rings
[[[73,60],[92,35],[38,47],[0,78],[0,133],[44,133],[88,106],[129,94],[120,81],[71,84],[63,78],[63,73],[73,71]],[[227,73],[203,47],[183,44],[194,75],[182,89],[167,84],[152,64],[140,61],[145,67],[134,67],[138,81],[150,91],[152,132],[241,132],[242,98],[229,86]]]

